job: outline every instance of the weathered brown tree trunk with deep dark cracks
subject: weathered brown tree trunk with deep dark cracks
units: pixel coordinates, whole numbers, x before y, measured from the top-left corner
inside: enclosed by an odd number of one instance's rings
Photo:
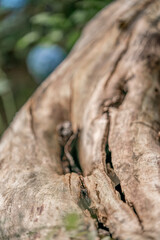
[[[1,139],[0,239],[160,239],[159,131],[160,2],[119,0]]]

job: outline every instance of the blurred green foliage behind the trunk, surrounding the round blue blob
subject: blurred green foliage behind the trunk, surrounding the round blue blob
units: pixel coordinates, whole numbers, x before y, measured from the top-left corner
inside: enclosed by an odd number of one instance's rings
[[[30,0],[26,8],[16,11],[0,7],[0,69],[3,72],[0,74],[0,99],[5,88],[4,83],[1,84],[2,75],[12,95],[8,107],[3,99],[0,101],[7,124],[37,87],[26,68],[29,50],[37,44],[58,44],[69,52],[84,25],[110,2],[112,0]],[[6,125],[1,112],[0,133]]]

